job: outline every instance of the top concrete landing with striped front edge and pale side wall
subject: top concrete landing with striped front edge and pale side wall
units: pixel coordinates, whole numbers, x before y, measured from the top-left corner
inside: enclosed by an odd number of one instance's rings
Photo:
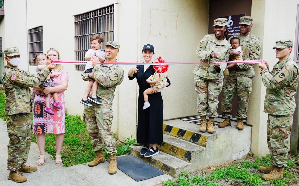
[[[219,123],[223,119],[215,118],[214,121]],[[200,125],[180,119],[168,120],[163,122],[163,133],[205,147],[194,160],[192,157],[192,163],[188,166],[188,170],[192,172],[241,159],[248,154],[251,147],[251,127],[245,125],[243,130],[237,130],[237,123],[231,123],[231,126],[215,128],[215,133],[209,134],[199,132]]]

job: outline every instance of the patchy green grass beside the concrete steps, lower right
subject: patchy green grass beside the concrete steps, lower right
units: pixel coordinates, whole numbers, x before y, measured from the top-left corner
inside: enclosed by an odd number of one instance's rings
[[[296,160],[297,158],[295,157],[289,158],[287,165],[298,170],[298,166],[295,165]],[[163,183],[164,186],[219,186],[223,185],[223,182],[229,185],[238,186],[298,185],[298,173],[292,171],[291,168],[284,168],[284,177],[282,179],[275,181],[263,180],[261,177],[262,173],[259,172],[258,167],[268,165],[271,165],[269,155],[261,158],[247,156],[244,159],[232,162],[227,166],[215,168],[213,170],[202,170],[193,176],[190,176],[186,171],[182,171],[176,180],[168,180]]]

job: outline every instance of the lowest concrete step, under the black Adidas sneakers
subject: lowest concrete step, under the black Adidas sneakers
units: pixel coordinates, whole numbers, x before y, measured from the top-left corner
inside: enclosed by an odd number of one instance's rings
[[[131,148],[130,151],[131,154],[138,157],[139,159],[144,160],[145,162],[148,162],[149,164],[162,170],[163,172],[169,174],[170,176],[174,176],[174,177],[178,176],[182,170],[187,169],[187,167],[190,166],[190,163],[185,162],[169,154],[166,154],[162,151],[159,151],[160,153],[155,156],[147,158],[140,155],[140,150],[142,148],[142,145],[140,146],[132,145],[130,146],[130,148]]]

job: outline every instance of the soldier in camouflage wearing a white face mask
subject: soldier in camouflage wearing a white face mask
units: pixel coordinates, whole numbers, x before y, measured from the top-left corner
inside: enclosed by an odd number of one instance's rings
[[[31,74],[18,69],[20,53],[18,48],[4,50],[4,66],[2,85],[5,90],[5,117],[9,143],[7,145],[7,179],[15,182],[25,182],[27,178],[22,173],[34,172],[37,167],[25,165],[31,143],[31,101],[30,87],[39,85],[47,78],[54,65],[50,64],[37,74]]]

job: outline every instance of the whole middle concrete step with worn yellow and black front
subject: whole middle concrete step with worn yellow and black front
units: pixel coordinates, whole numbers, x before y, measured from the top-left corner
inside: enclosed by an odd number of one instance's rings
[[[159,150],[182,159],[186,162],[196,162],[204,147],[167,134],[163,134],[163,144],[158,145]]]

